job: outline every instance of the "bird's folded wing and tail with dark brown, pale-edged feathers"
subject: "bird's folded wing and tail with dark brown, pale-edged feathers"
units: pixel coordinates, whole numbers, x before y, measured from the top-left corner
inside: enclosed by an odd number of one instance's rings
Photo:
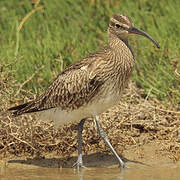
[[[101,59],[101,56],[92,56],[70,65],[41,96],[9,110],[17,116],[54,107],[67,111],[78,109],[88,103],[104,83],[96,71]]]

